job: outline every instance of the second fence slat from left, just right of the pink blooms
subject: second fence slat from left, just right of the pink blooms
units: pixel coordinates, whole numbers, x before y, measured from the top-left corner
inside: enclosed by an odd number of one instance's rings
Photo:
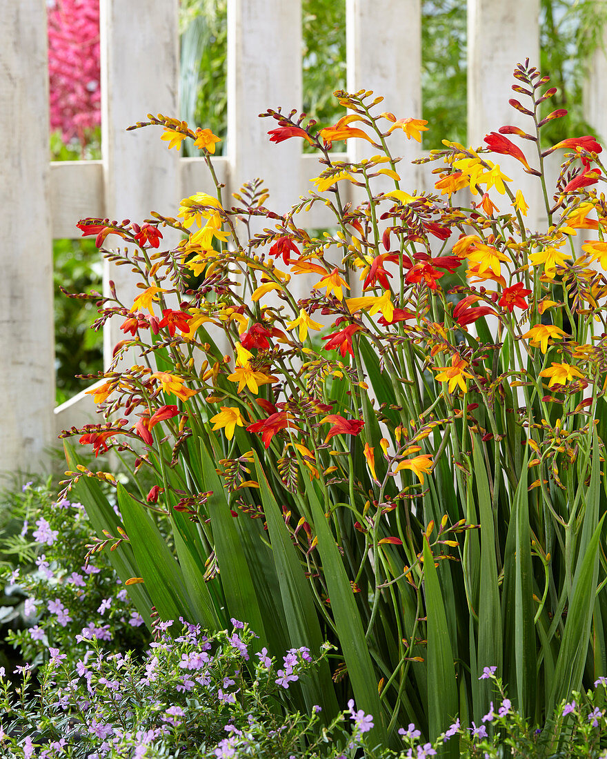
[[[146,114],[178,111],[178,0],[102,0],[101,96],[105,213],[110,219],[149,219],[150,211],[175,216],[180,200],[179,152],[160,140],[159,127],[125,131]],[[163,230],[164,244],[178,238]],[[107,238],[117,247],[118,238]],[[105,266],[128,307],[137,294],[130,266]],[[105,364],[124,339],[120,321],[104,331]]]

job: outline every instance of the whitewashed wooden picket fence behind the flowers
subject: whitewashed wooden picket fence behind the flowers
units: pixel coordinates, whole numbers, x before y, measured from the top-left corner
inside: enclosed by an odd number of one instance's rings
[[[539,0],[468,0],[467,13],[468,140],[480,144],[513,123],[514,65],[539,61]],[[420,118],[420,28],[420,0],[347,0],[348,90],[374,90],[398,118]],[[52,239],[77,237],[84,216],[171,215],[182,197],[212,190],[202,159],[167,150],[157,129],[124,131],[148,112],[178,115],[178,44],[178,0],[101,0],[103,159],[49,162],[46,2],[0,0],[0,472],[44,468],[58,431],[93,411],[90,396],[54,406]],[[600,52],[587,114],[602,134],[605,74]],[[310,187],[315,157],[296,140],[269,143],[275,124],[258,118],[301,99],[300,0],[228,0],[227,154],[215,160],[226,197],[263,177],[284,211]],[[399,153],[416,157],[417,143],[403,142]],[[366,146],[355,143],[348,155],[360,157]],[[420,181],[411,174],[412,186]],[[307,219],[326,222],[322,213]],[[125,269],[105,276],[122,293],[133,289]],[[116,329],[106,329],[106,355],[124,336]]]

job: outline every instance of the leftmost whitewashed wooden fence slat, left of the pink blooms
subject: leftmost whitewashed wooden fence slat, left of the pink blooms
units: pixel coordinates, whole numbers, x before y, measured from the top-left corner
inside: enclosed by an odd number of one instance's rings
[[[49,83],[44,0],[4,0],[0,24],[0,479],[48,466],[55,404]]]

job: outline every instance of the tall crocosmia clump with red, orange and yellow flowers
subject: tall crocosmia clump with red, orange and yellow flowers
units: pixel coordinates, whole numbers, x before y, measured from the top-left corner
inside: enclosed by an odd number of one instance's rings
[[[331,642],[292,698],[328,719],[352,699],[373,716],[370,745],[411,724],[422,741],[456,718],[480,725],[488,668],[540,725],[607,675],[602,148],[544,145],[563,115],[539,117],[555,89],[528,61],[514,77],[528,130],[445,140],[419,161],[436,163],[429,191],[397,157],[426,122],[339,91],[348,115],[329,128],[263,114],[270,140],[319,153],[289,213],[269,209],[260,181],[224,197],[217,138],[159,115],[132,128],[161,127],[169,150],[194,140],[216,195],[184,198],[177,218],[78,225],[99,247],[118,237],[103,254],[140,278],[134,302],[99,301],[96,327],[124,332],[90,390],[105,423],[64,433],[132,461],[118,522],[100,482],[112,474],[66,445],[93,551],[112,546],[150,625],[246,619],[273,655]],[[347,140],[375,154],[335,161]],[[502,156],[541,188],[541,229]],[[318,203],[335,222],[313,236]],[[168,228],[181,235],[169,249]],[[457,739],[441,751],[459,756]]]

